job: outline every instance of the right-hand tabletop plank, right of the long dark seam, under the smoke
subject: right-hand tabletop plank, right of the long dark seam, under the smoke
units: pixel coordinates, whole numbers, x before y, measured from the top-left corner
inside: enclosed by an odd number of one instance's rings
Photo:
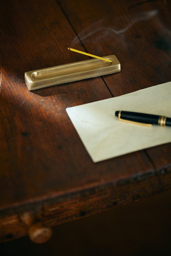
[[[75,8],[69,0],[58,2],[77,33],[73,47],[79,47],[81,41],[88,52],[118,57],[121,72],[103,76],[113,96],[171,80],[169,1],[132,0],[121,4],[95,0],[92,4],[91,0],[86,0],[75,1]],[[170,170],[170,143],[145,152],[156,170],[164,165]]]

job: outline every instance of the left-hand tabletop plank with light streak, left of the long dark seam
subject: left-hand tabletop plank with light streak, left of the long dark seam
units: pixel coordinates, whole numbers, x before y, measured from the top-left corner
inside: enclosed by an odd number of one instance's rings
[[[8,1],[2,8],[5,6],[8,6]],[[1,47],[6,55],[11,56],[2,62],[1,127],[4,136],[1,156],[4,161],[1,161],[1,208],[54,197],[66,191],[128,178],[135,173],[153,169],[143,151],[97,165],[89,158],[69,120],[66,108],[111,97],[101,78],[47,88],[35,93],[28,91],[24,71],[34,69],[35,65],[37,68],[53,66],[54,51],[56,62],[72,62],[75,55],[65,51],[65,48],[67,49],[75,35],[53,1],[46,3],[46,8],[39,5],[39,1],[28,2],[27,5],[18,1],[15,5],[17,19],[12,8],[14,6],[11,6],[8,15],[14,38],[10,40],[12,35],[7,33],[6,42],[2,41],[4,45]],[[32,15],[29,16],[29,13]],[[9,22],[6,15],[4,12],[2,17],[4,28],[7,26],[6,22]],[[28,16],[27,19],[24,19],[25,15]],[[45,20],[42,16],[46,17]],[[58,26],[60,20],[62,23]],[[50,29],[53,26],[54,29]],[[25,34],[24,28],[30,32],[30,37]],[[20,33],[17,32],[18,29]],[[38,36],[35,36],[35,32]],[[67,41],[62,38],[66,34]],[[23,40],[22,45],[17,46],[16,41],[20,40]],[[27,51],[25,58],[23,52]],[[37,62],[35,56],[40,56],[40,59],[44,56],[44,61]],[[17,64],[14,66],[15,62]],[[118,169],[117,173],[114,172],[115,169]]]

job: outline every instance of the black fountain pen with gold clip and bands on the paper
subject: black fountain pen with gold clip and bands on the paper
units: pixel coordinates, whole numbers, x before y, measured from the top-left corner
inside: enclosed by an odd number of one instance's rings
[[[160,126],[171,126],[171,118],[166,116],[158,116],[129,111],[116,111],[115,116],[117,116],[118,119],[121,121],[141,124],[145,126],[152,126],[152,124]]]

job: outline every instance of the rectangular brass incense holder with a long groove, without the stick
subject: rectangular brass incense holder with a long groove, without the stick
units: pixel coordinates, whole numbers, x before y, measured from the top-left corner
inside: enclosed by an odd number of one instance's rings
[[[57,84],[120,72],[120,62],[115,55],[105,56],[104,58],[110,59],[112,62],[89,59],[26,72],[26,85],[29,91],[33,91]]]

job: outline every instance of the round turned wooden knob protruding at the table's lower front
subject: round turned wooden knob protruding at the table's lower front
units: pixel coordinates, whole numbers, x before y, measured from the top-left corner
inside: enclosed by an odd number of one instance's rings
[[[52,229],[41,222],[34,223],[28,231],[30,239],[36,244],[47,242],[52,236]]]

